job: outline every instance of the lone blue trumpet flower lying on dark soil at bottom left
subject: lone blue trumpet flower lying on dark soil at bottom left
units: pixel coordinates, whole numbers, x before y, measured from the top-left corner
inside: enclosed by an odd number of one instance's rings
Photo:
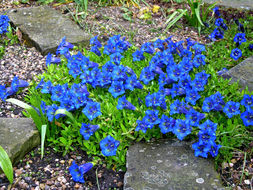
[[[75,182],[84,183],[83,175],[87,173],[93,167],[92,163],[85,163],[78,166],[75,161],[72,162],[72,165],[69,167],[69,172],[72,176],[72,179]]]

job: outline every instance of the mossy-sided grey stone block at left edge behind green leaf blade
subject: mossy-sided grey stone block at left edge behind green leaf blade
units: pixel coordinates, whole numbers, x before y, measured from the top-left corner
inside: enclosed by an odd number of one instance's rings
[[[39,132],[29,118],[0,118],[0,145],[13,165],[40,144]]]

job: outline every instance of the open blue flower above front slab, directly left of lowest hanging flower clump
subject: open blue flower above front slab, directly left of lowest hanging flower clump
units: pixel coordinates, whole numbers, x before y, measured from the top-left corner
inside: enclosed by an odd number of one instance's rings
[[[177,119],[173,129],[173,133],[179,140],[183,140],[187,135],[191,134],[192,128],[188,120]]]

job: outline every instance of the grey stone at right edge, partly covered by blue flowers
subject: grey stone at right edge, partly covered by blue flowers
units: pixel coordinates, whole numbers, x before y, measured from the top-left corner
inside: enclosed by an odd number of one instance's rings
[[[231,82],[239,81],[243,89],[248,86],[249,91],[253,91],[253,56],[225,72],[222,77],[231,79]]]

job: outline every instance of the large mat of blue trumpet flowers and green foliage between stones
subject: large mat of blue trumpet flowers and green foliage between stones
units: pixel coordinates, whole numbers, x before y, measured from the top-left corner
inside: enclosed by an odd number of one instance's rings
[[[236,23],[233,28],[237,30]],[[250,55],[249,34],[248,41],[240,46],[245,45],[243,55]],[[229,63],[238,63],[230,57],[236,42],[229,51],[224,43],[220,40],[215,45],[220,44],[219,50],[224,51]],[[88,51],[63,40],[58,57],[48,55],[48,71],[40,76],[44,79],[39,85],[32,84],[27,100],[41,109],[41,116],[43,112],[47,115],[46,134],[52,147],[64,154],[81,147],[90,156],[97,156],[92,165],[103,158],[108,167],[124,170],[126,148],[131,142],[175,136],[195,139],[196,156],[207,157],[208,152],[216,156],[219,151],[217,162],[229,160],[232,150],[252,141],[252,93],[240,93],[237,84],[229,85],[219,77],[217,71],[227,65],[220,59],[221,64],[216,64],[218,57],[213,59],[216,54],[210,49],[190,39],[173,42],[168,38],[137,50],[114,36],[103,47],[93,38]],[[68,96],[68,101],[63,96]],[[74,119],[55,116],[58,108],[67,109]],[[73,163],[73,179],[83,182],[80,176],[90,167]]]

